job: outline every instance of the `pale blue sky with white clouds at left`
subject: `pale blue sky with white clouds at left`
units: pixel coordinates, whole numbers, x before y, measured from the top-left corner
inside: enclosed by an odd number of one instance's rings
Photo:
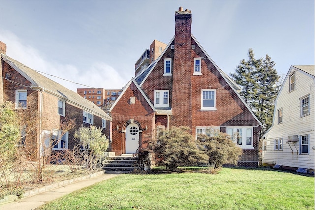
[[[0,0],[0,41],[7,56],[75,92],[121,89],[154,39],[170,42],[180,6],[227,74],[250,48],[283,77],[291,65],[314,65],[314,0]]]

